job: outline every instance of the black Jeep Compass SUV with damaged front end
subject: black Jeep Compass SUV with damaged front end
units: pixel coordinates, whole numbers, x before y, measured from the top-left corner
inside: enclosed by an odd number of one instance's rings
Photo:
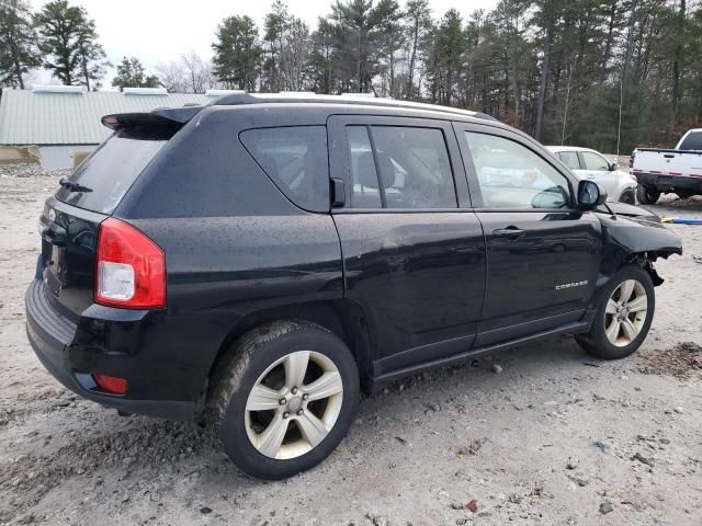
[[[482,114],[239,93],[103,124],[41,217],[30,342],[90,400],[210,415],[257,477],[329,455],[361,389],[562,333],[633,353],[681,253]]]

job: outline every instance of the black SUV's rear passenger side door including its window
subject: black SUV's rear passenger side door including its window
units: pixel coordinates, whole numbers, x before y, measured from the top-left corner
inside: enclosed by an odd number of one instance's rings
[[[485,241],[450,123],[333,116],[328,129],[346,297],[366,316],[374,375],[468,351]]]

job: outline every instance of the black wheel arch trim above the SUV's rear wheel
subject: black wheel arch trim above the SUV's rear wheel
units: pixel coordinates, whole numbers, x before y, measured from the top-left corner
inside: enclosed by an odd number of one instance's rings
[[[223,340],[207,373],[213,378],[234,342],[252,329],[275,321],[295,320],[318,324],[337,335],[351,351],[359,368],[361,388],[369,391],[371,385],[371,336],[361,307],[349,299],[293,304],[250,312],[239,319]],[[204,387],[204,392],[207,386]]]

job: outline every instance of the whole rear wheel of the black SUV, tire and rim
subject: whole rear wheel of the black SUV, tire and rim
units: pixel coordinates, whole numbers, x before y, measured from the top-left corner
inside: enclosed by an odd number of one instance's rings
[[[358,408],[351,352],[313,323],[254,329],[218,369],[210,408],[216,442],[260,479],[283,479],[319,464],[341,442]]]

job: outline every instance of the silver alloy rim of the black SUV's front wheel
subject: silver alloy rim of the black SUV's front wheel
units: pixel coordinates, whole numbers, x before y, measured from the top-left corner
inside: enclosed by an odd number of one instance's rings
[[[604,332],[618,347],[631,344],[642,331],[648,315],[648,296],[644,285],[626,279],[614,289],[604,309]]]

